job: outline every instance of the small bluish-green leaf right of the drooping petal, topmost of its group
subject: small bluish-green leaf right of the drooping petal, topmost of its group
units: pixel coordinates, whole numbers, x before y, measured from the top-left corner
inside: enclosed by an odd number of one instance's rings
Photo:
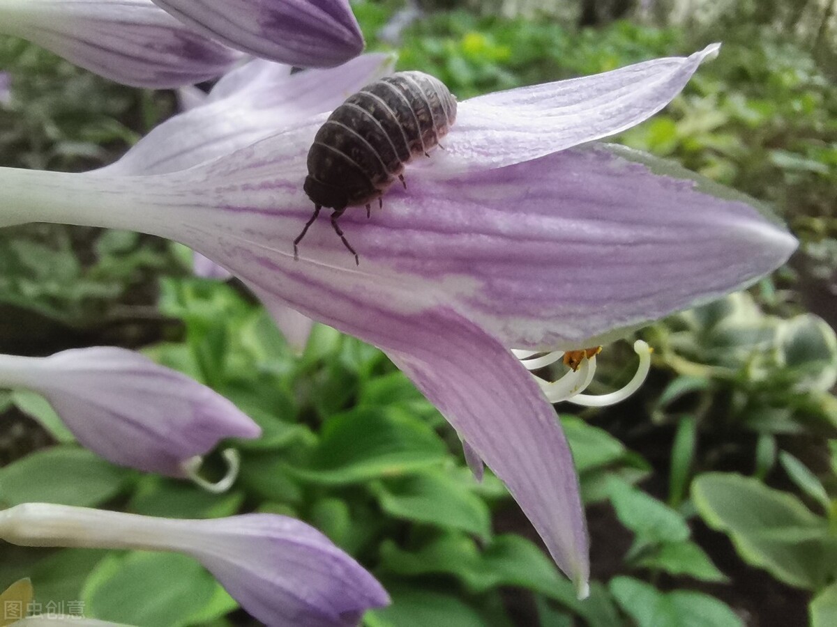
[[[619,522],[640,541],[671,543],[689,538],[686,521],[665,503],[616,477],[608,479],[608,492]]]

